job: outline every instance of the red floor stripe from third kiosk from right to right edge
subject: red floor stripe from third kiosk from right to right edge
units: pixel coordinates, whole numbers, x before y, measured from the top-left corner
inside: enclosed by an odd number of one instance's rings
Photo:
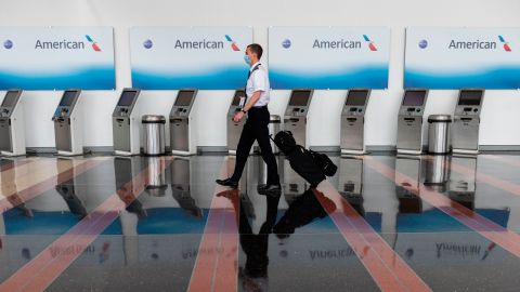
[[[372,157],[366,157],[364,161],[366,162],[366,165],[368,165],[370,169],[379,172],[384,176],[387,176],[391,181],[415,181],[414,178],[395,171],[394,169],[386,165],[385,163],[376,161]],[[422,200],[441,210],[445,214],[454,217],[470,229],[479,233],[481,236],[497,243],[503,249],[520,257],[519,235],[502,227],[500,225],[487,220],[486,217],[479,215],[478,213],[467,209],[466,207],[457,203],[456,201],[452,201],[448,197],[426,188],[422,184],[419,185],[418,191],[413,187],[407,188],[407,190],[415,196],[420,197]]]

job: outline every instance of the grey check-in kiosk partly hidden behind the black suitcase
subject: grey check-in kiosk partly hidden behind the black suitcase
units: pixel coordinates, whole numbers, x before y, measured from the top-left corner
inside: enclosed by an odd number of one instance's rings
[[[284,117],[284,130],[290,131],[296,143],[306,148],[309,147],[307,120],[313,92],[311,89],[294,90]]]

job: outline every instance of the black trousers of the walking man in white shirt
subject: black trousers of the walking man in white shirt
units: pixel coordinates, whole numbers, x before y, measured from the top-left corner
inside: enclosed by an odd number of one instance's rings
[[[235,172],[231,178],[235,182],[240,180],[242,173],[249,157],[252,144],[258,141],[263,161],[268,164],[268,184],[278,185],[280,176],[276,159],[271,148],[269,138],[269,120],[271,115],[268,107],[252,107],[248,111],[248,118],[242,130],[240,140],[236,148]]]

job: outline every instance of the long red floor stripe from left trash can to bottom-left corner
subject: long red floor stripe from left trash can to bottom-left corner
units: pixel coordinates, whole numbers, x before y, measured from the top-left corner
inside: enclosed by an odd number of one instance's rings
[[[148,168],[157,168],[153,173],[160,173],[171,162],[170,159],[158,158],[151,162],[132,181],[125,184],[87,217],[81,220],[66,234],[56,239],[29,263],[0,284],[0,291],[43,291],[46,290],[103,230],[119,215],[127,203],[133,201],[148,185],[151,180]],[[69,248],[77,253],[57,253]]]

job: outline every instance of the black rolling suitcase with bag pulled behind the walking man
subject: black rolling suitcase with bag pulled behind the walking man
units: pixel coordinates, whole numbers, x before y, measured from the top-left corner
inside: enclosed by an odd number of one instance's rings
[[[337,169],[326,155],[310,151],[297,145],[292,133],[289,131],[278,132],[273,141],[287,160],[289,160],[290,168],[311,184],[312,188],[315,188],[326,178],[324,165],[327,167],[326,173],[332,173],[334,168]],[[334,171],[334,173],[336,173],[336,171]]]

